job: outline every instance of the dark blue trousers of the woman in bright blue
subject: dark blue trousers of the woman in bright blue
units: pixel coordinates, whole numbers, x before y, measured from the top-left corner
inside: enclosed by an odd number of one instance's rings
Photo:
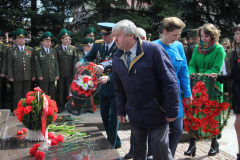
[[[170,122],[169,127],[169,148],[171,150],[172,156],[174,157],[178,142],[183,132],[183,117]]]

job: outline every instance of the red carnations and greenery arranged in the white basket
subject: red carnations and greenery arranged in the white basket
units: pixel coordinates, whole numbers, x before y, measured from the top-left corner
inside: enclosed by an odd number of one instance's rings
[[[46,114],[45,126],[48,126],[57,119],[57,104],[47,95],[43,94],[40,88],[27,93],[26,98],[18,102],[17,109],[14,111],[19,122],[30,130],[42,130],[43,114]],[[45,98],[44,98],[45,97]],[[47,112],[44,112],[44,99],[47,100]]]

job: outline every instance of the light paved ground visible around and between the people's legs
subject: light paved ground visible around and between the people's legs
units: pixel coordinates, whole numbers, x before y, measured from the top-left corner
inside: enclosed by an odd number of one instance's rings
[[[82,114],[80,116],[73,116],[73,117],[78,117],[82,118],[84,121],[101,121],[101,116],[100,116],[100,109],[98,109],[94,114],[91,113],[86,113]],[[68,114],[66,111],[64,111],[61,114]],[[58,115],[61,115],[58,114]],[[234,121],[235,121],[235,116],[233,114],[230,115],[228,125],[224,128],[222,132],[222,138],[219,140],[220,144],[220,151],[219,154],[216,156],[208,157],[208,151],[210,149],[211,142],[210,141],[201,141],[197,142],[197,151],[196,151],[196,156],[195,157],[189,157],[189,156],[184,156],[184,151],[188,149],[188,143],[179,143],[175,157],[174,159],[176,160],[234,160],[236,159],[236,154],[238,152],[238,144],[237,144],[237,137],[236,137],[236,132],[234,129]],[[103,135],[106,137],[106,133],[103,131]],[[120,130],[118,131],[118,134],[121,138],[122,141],[122,147],[117,149],[119,154],[124,157],[125,154],[128,153],[129,148],[130,148],[130,130]],[[124,160],[124,158],[123,158]]]

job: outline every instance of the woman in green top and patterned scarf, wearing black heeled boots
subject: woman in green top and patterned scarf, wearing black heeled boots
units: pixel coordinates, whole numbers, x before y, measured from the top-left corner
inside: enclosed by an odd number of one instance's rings
[[[226,53],[221,44],[218,43],[220,30],[213,24],[206,23],[198,28],[198,36],[200,38],[199,45],[196,46],[192,59],[189,62],[189,74],[193,73],[220,73]],[[215,85],[223,91],[223,85],[216,82]],[[195,156],[196,139],[191,137],[190,145],[184,155]],[[212,138],[211,148],[208,152],[209,156],[214,156],[219,152],[219,143],[217,138]]]

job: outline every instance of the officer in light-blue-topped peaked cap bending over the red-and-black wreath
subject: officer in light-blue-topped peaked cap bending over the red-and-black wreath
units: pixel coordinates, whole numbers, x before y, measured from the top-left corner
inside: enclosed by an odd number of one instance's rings
[[[99,65],[94,70],[96,74],[102,73],[106,63],[112,61],[113,54],[117,51],[116,43],[111,35],[113,23],[98,23],[101,30],[103,40],[95,41],[93,48],[87,56],[82,58],[80,62],[76,64],[76,68],[80,68],[84,61],[93,61],[97,59]],[[117,134],[119,121],[117,119],[117,108],[115,102],[113,76],[111,68],[105,69],[102,73],[102,77],[98,79],[101,84],[99,91],[100,99],[100,112],[103,120],[103,124],[107,133],[108,141],[115,148],[121,147],[121,140]]]

